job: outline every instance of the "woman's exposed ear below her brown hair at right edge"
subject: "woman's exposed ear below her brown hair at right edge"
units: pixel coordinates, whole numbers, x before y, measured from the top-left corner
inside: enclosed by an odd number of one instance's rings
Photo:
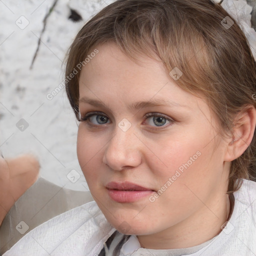
[[[256,109],[253,105],[240,111],[233,122],[232,138],[227,141],[224,161],[238,158],[249,146],[256,125]]]

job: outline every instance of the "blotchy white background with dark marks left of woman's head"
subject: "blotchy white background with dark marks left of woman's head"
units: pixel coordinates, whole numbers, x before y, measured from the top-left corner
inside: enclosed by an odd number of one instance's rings
[[[34,154],[40,176],[74,190],[86,190],[75,117],[64,88],[51,100],[46,95],[64,78],[62,61],[78,30],[112,1],[0,0],[0,150],[4,157]],[[82,20],[69,19],[70,9]],[[66,176],[73,169],[75,183]]]

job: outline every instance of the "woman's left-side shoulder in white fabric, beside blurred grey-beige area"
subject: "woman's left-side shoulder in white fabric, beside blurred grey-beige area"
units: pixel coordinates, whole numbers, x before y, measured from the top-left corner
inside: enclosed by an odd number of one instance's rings
[[[32,229],[3,255],[80,255],[101,246],[112,229],[91,201]]]

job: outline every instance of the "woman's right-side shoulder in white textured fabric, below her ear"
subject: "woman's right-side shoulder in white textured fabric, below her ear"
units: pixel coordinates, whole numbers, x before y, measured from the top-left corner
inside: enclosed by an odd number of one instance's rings
[[[233,195],[235,200],[230,219],[221,225],[215,239],[191,255],[255,255],[256,182],[243,179]]]

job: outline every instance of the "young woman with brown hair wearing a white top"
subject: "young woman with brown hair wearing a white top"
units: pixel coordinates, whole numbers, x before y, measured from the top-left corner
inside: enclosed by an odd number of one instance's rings
[[[255,255],[256,65],[210,0],[117,0],[70,46],[66,91],[95,201],[4,255]]]

